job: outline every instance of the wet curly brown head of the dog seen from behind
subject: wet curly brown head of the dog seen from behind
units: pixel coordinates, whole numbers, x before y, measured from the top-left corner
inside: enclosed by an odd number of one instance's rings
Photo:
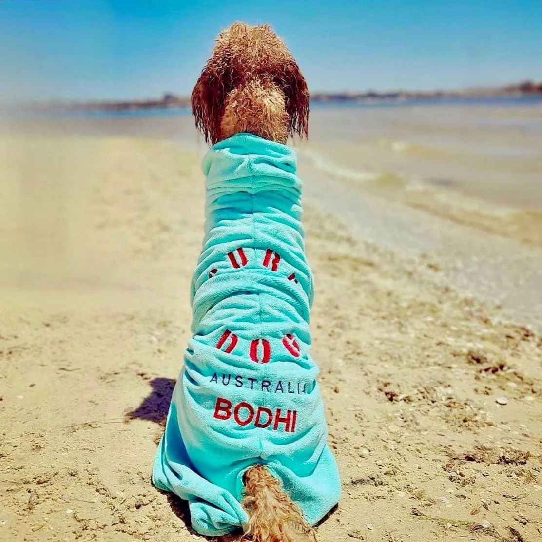
[[[192,91],[192,113],[214,145],[240,132],[286,143],[308,134],[308,89],[298,64],[268,25],[235,23],[216,40]]]

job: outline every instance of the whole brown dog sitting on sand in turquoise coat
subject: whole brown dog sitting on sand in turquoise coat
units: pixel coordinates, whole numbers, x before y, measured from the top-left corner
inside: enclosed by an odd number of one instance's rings
[[[337,504],[318,367],[308,354],[312,273],[288,137],[308,137],[307,83],[268,25],[222,31],[192,92],[212,147],[193,337],[153,466],[192,527],[243,540],[314,540]]]

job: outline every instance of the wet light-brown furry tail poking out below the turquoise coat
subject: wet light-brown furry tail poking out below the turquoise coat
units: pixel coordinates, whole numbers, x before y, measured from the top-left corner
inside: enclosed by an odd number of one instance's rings
[[[249,521],[242,542],[316,542],[314,529],[265,467],[247,471],[244,491],[242,505]]]

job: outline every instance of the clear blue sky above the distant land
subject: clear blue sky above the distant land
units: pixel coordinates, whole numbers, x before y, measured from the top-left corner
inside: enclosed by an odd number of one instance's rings
[[[236,20],[272,24],[312,91],[542,80],[542,0],[0,0],[0,99],[188,94]]]

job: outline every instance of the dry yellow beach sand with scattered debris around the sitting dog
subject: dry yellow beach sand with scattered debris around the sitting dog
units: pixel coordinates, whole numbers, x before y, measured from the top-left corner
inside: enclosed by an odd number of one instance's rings
[[[198,158],[171,144],[0,144],[0,540],[199,538],[150,469],[202,222]],[[320,541],[540,540],[542,339],[430,260],[305,224],[344,490]]]

